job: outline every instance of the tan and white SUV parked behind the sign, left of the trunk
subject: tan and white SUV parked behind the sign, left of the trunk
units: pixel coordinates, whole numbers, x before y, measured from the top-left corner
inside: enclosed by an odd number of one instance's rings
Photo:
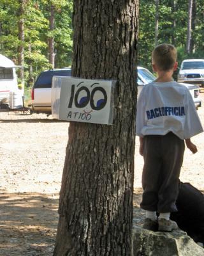
[[[32,108],[35,113],[51,114],[51,88],[53,76],[71,76],[71,68],[54,68],[40,73],[31,90]]]

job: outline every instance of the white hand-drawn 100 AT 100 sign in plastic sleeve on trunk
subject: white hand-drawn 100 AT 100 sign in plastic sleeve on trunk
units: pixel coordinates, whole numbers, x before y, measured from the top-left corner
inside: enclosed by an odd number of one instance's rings
[[[61,120],[112,124],[115,84],[110,80],[54,77],[52,115]]]

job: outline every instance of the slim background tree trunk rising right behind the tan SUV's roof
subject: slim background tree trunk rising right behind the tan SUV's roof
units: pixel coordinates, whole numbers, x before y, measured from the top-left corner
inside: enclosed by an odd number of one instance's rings
[[[55,19],[54,19],[54,12],[55,8],[52,5],[50,7],[50,19],[49,19],[49,28],[50,28],[50,36],[48,37],[48,55],[49,55],[49,63],[52,66],[52,68],[55,67],[55,49],[54,49],[54,36],[52,35],[54,31],[54,24],[55,24]]]

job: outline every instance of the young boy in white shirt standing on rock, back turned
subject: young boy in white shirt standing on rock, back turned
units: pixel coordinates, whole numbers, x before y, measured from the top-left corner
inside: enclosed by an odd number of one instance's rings
[[[136,115],[136,135],[140,136],[144,158],[140,207],[146,211],[143,228],[170,232],[178,228],[170,220],[170,212],[177,211],[184,140],[186,147],[196,153],[190,138],[203,128],[189,90],[172,79],[177,69],[175,47],[157,45],[152,52],[152,67],[157,79],[143,87]]]

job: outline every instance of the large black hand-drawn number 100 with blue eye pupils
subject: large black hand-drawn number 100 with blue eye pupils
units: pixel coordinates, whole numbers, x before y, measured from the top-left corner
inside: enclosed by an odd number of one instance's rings
[[[80,86],[80,84],[82,84],[84,82],[80,82],[79,84],[77,84],[77,87]],[[99,84],[99,83],[93,83],[91,84],[91,88],[92,86]],[[86,95],[84,97],[78,97],[80,95],[80,92],[85,92]],[[98,99],[96,102],[96,105],[94,104],[94,95],[96,92],[101,92],[103,94],[103,99]],[[79,100],[78,100],[79,98]],[[95,87],[91,92],[90,90],[85,87],[82,86],[80,87],[77,92],[75,92],[75,84],[71,85],[71,96],[69,99],[69,104],[68,104],[68,108],[72,108],[73,105],[73,99],[75,99],[75,106],[77,108],[85,108],[87,106],[87,104],[90,104],[91,108],[94,110],[101,110],[106,106],[106,102],[107,102],[107,93],[104,90],[104,88],[102,87]]]

